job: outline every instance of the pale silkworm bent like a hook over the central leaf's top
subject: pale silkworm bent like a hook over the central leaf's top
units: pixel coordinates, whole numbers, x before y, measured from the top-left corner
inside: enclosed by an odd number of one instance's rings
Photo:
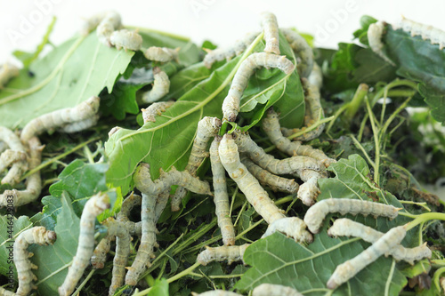
[[[243,60],[233,80],[231,89],[223,101],[223,118],[231,122],[235,121],[239,113],[239,101],[247,87],[250,76],[255,68],[279,68],[285,74],[294,71],[295,66],[292,61],[287,60],[286,56],[279,56],[267,52],[255,52]]]

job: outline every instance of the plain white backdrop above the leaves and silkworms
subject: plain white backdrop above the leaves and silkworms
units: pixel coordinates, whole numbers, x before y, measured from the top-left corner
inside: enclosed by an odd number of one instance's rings
[[[401,15],[445,29],[445,1],[391,0],[0,0],[0,63],[12,60],[14,49],[32,51],[53,15],[58,20],[54,44],[77,32],[82,18],[113,9],[126,25],[156,28],[190,36],[200,44],[210,39],[227,46],[260,28],[259,13],[274,12],[281,27],[295,27],[316,36],[316,45],[335,48],[349,42],[368,14],[390,23]]]

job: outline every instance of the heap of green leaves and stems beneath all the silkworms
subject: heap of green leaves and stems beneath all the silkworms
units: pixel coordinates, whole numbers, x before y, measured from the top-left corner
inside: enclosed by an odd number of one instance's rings
[[[330,121],[320,138],[309,144],[338,160],[328,168],[330,178],[319,180],[318,200],[335,196],[385,201],[404,208],[413,218],[427,211],[441,212],[443,202],[425,192],[419,182],[434,183],[445,176],[445,136],[440,130],[440,124],[445,123],[445,68],[439,67],[445,64],[445,51],[420,36],[386,26],[384,52],[394,62],[392,65],[368,46],[368,26],[374,22],[368,16],[361,19],[360,28],[353,33],[356,43],[339,44],[338,50],[313,48],[323,71],[322,105]],[[45,144],[43,164],[38,167],[44,180],[42,198],[16,209],[13,218],[14,236],[33,225],[57,233],[53,245],[30,247],[38,266],[35,274],[40,295],[58,294],[57,287],[76,253],[79,217],[88,197],[100,191],[113,197],[112,208],[98,217],[101,222],[118,212],[124,196],[134,189],[132,177],[140,162],[150,164],[153,180],[161,168],[183,170],[198,120],[203,116],[222,117],[223,99],[234,71],[244,59],[239,55],[206,68],[203,49],[214,49],[211,42],[199,47],[182,36],[139,28],[146,48],[180,48],[178,61],[161,65],[146,60],[142,52],[104,46],[94,32],[54,46],[49,42],[52,28],[36,52],[14,52],[24,67],[20,76],[0,90],[0,125],[22,128],[36,116],[74,107],[93,95],[101,97],[101,118],[84,132],[41,136]],[[280,45],[281,54],[295,62],[297,57],[283,36]],[[52,50],[39,57],[42,49],[50,46]],[[253,52],[263,51],[263,47],[260,42]],[[170,92],[162,100],[181,103],[168,108],[156,123],[143,124],[136,97],[139,91],[150,89],[155,66],[162,68],[171,81]],[[368,86],[366,95],[363,84]],[[280,111],[283,126],[303,124],[303,88],[296,71],[288,77],[277,69],[256,71],[241,100],[238,126],[248,130],[263,148],[280,156],[258,124],[271,106]],[[408,107],[425,108],[413,115]],[[116,125],[123,129],[109,137],[109,130]],[[198,175],[211,182],[208,163],[201,165]],[[158,221],[157,257],[139,285],[150,290],[134,292],[134,288],[125,286],[117,294],[189,295],[214,288],[248,292],[259,284],[271,283],[295,287],[303,294],[322,295],[332,293],[326,282],[336,266],[369,245],[357,239],[329,237],[326,229],[334,214],[327,217],[312,244],[296,244],[279,233],[260,239],[267,225],[229,178],[228,188],[237,244],[253,243],[244,255],[246,266],[220,262],[194,266],[198,252],[206,245],[221,245],[222,236],[211,196],[189,195],[180,212],[171,212],[167,206]],[[303,218],[307,207],[295,196],[267,190],[289,215]],[[5,284],[9,268],[5,245],[10,239],[8,218],[1,211],[0,274]],[[132,220],[140,220],[139,212],[134,210]],[[348,218],[382,232],[412,220],[407,216],[391,221]],[[104,227],[97,223],[96,230],[99,240]],[[409,231],[402,243],[409,247],[427,242],[433,250],[431,260],[410,266],[382,257],[334,293],[441,293],[444,232],[442,221],[429,220]],[[135,250],[138,243],[132,242]],[[130,260],[134,256],[133,252]],[[111,268],[112,256],[103,269],[88,268],[81,293],[106,294]]]

